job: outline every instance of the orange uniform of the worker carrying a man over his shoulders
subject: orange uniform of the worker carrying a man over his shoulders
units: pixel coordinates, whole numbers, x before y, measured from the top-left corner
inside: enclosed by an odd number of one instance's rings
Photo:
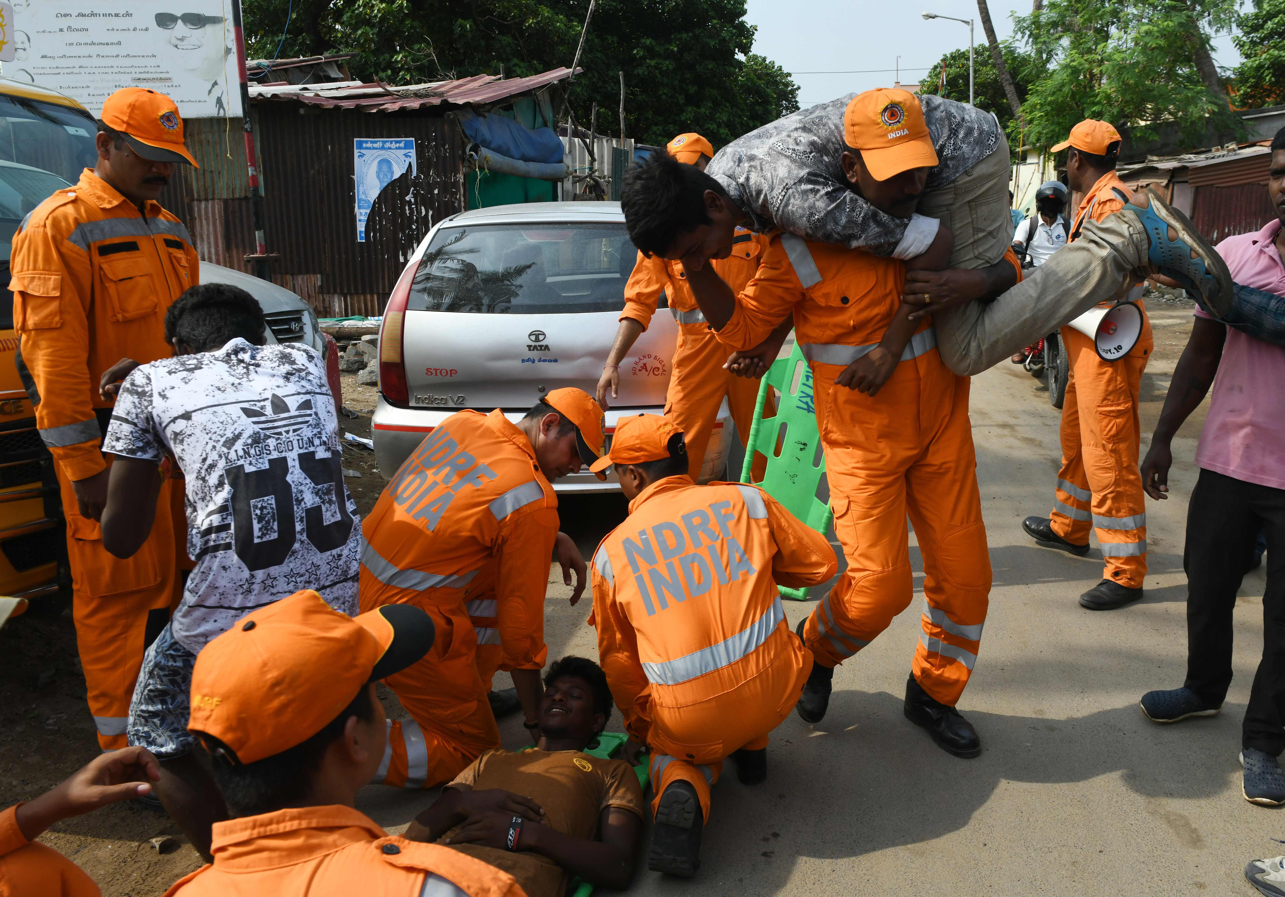
[[[812,368],[834,532],[848,568],[808,618],[807,646],[833,667],[906,609],[908,514],[925,573],[912,671],[929,695],[953,706],[977,661],[991,591],[969,378],[946,368],[925,321],[876,396],[834,384],[879,344],[903,280],[897,260],[776,235],[718,338],[756,346],[793,310]]]

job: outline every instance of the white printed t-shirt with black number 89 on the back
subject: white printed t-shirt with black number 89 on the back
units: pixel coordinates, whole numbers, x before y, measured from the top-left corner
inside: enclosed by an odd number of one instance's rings
[[[140,365],[103,451],[158,464],[171,452],[186,477],[197,568],[170,625],[188,650],[301,589],[357,612],[361,526],[316,350],[236,338]]]

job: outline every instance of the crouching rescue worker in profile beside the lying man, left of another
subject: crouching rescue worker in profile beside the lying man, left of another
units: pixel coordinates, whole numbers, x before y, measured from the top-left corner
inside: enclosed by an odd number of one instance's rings
[[[572,603],[585,587],[549,483],[601,457],[605,438],[603,410],[581,389],[554,389],[517,424],[499,409],[460,411],[379,496],[362,529],[361,612],[414,604],[433,618],[437,643],[386,680],[412,718],[391,724],[377,783],[433,788],[499,748],[487,700],[496,670],[513,673],[526,727],[538,727],[555,545],[563,568],[577,569]]]

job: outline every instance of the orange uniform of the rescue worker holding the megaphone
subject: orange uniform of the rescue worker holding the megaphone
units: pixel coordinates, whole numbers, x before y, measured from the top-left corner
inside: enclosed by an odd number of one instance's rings
[[[1079,203],[1072,240],[1085,221],[1101,221],[1124,208],[1114,190],[1131,197],[1115,172],[1103,175]],[[1123,359],[1104,361],[1094,339],[1064,326],[1070,375],[1061,406],[1061,470],[1052,508],[1052,531],[1076,545],[1097,531],[1103,577],[1140,589],[1146,576],[1146,493],[1139,470],[1139,396],[1151,355],[1151,319],[1142,308],[1142,333]]]

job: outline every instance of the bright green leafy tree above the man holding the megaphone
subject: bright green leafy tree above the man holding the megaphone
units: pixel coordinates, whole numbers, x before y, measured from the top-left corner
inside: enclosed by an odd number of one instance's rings
[[[1235,0],[1047,0],[1016,17],[1018,35],[1046,66],[1022,107],[1028,143],[1054,144],[1083,118],[1144,139],[1176,122],[1189,145],[1207,122],[1237,131],[1221,82],[1205,71],[1208,32],[1228,27],[1234,12]]]

